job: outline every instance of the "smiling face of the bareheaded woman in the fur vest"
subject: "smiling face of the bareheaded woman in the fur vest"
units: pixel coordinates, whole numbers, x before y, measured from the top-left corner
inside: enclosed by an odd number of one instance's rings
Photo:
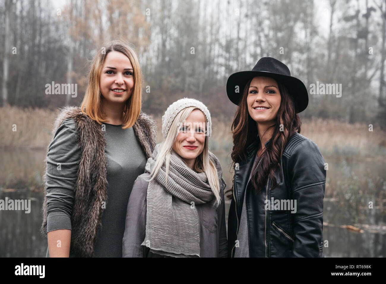
[[[100,74],[100,91],[109,103],[125,104],[134,87],[131,62],[125,54],[111,51],[107,54]]]

